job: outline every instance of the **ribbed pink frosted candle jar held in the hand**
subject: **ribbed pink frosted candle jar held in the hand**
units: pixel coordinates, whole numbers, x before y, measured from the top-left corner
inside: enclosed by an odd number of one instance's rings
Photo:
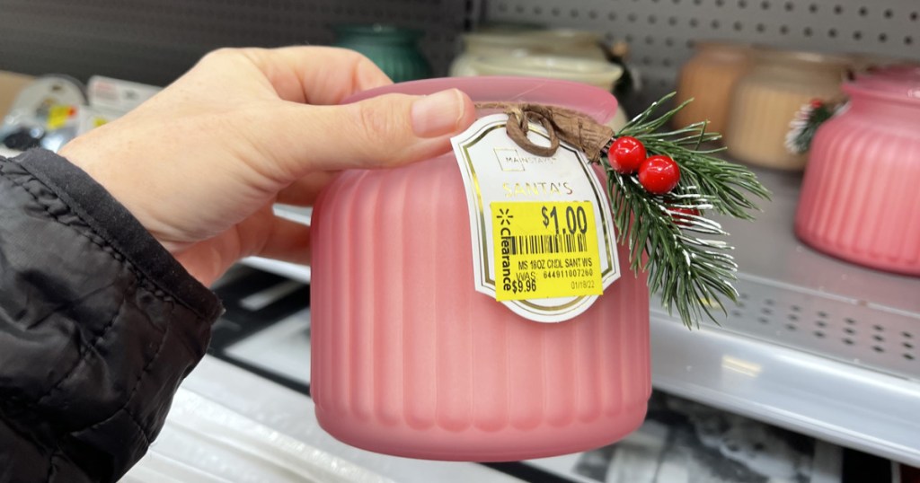
[[[608,121],[602,89],[468,77],[359,98],[458,87],[474,101],[554,104]],[[357,100],[351,99],[351,100]],[[344,443],[415,458],[510,461],[613,443],[645,418],[649,291],[627,269],[580,316],[517,316],[474,289],[469,213],[453,153],[342,173],[313,213],[312,384]]]

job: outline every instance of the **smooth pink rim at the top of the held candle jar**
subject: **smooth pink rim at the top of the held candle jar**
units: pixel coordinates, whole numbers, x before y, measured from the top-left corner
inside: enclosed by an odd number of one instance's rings
[[[479,77],[452,77],[400,82],[366,90],[346,98],[343,103],[351,104],[384,94],[408,94],[427,96],[445,89],[458,88],[475,102],[529,102],[534,104],[559,105],[565,99],[565,107],[574,109],[604,123],[610,121],[616,112],[616,98],[602,88],[577,82],[556,79],[534,79],[531,77],[489,77],[483,82]]]

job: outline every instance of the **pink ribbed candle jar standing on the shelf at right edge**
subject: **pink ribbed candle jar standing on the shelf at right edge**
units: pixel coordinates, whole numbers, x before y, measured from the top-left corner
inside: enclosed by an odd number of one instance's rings
[[[920,275],[920,67],[844,90],[849,107],[812,141],[796,234],[841,259]]]

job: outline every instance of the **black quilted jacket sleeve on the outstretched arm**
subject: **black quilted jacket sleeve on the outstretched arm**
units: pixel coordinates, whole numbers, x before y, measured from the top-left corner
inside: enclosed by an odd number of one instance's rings
[[[79,168],[0,157],[0,482],[121,477],[221,311]]]

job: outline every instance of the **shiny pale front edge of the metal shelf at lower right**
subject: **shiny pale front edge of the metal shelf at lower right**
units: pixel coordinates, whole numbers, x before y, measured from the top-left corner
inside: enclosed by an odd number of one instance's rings
[[[657,388],[920,465],[920,382],[652,312]]]

